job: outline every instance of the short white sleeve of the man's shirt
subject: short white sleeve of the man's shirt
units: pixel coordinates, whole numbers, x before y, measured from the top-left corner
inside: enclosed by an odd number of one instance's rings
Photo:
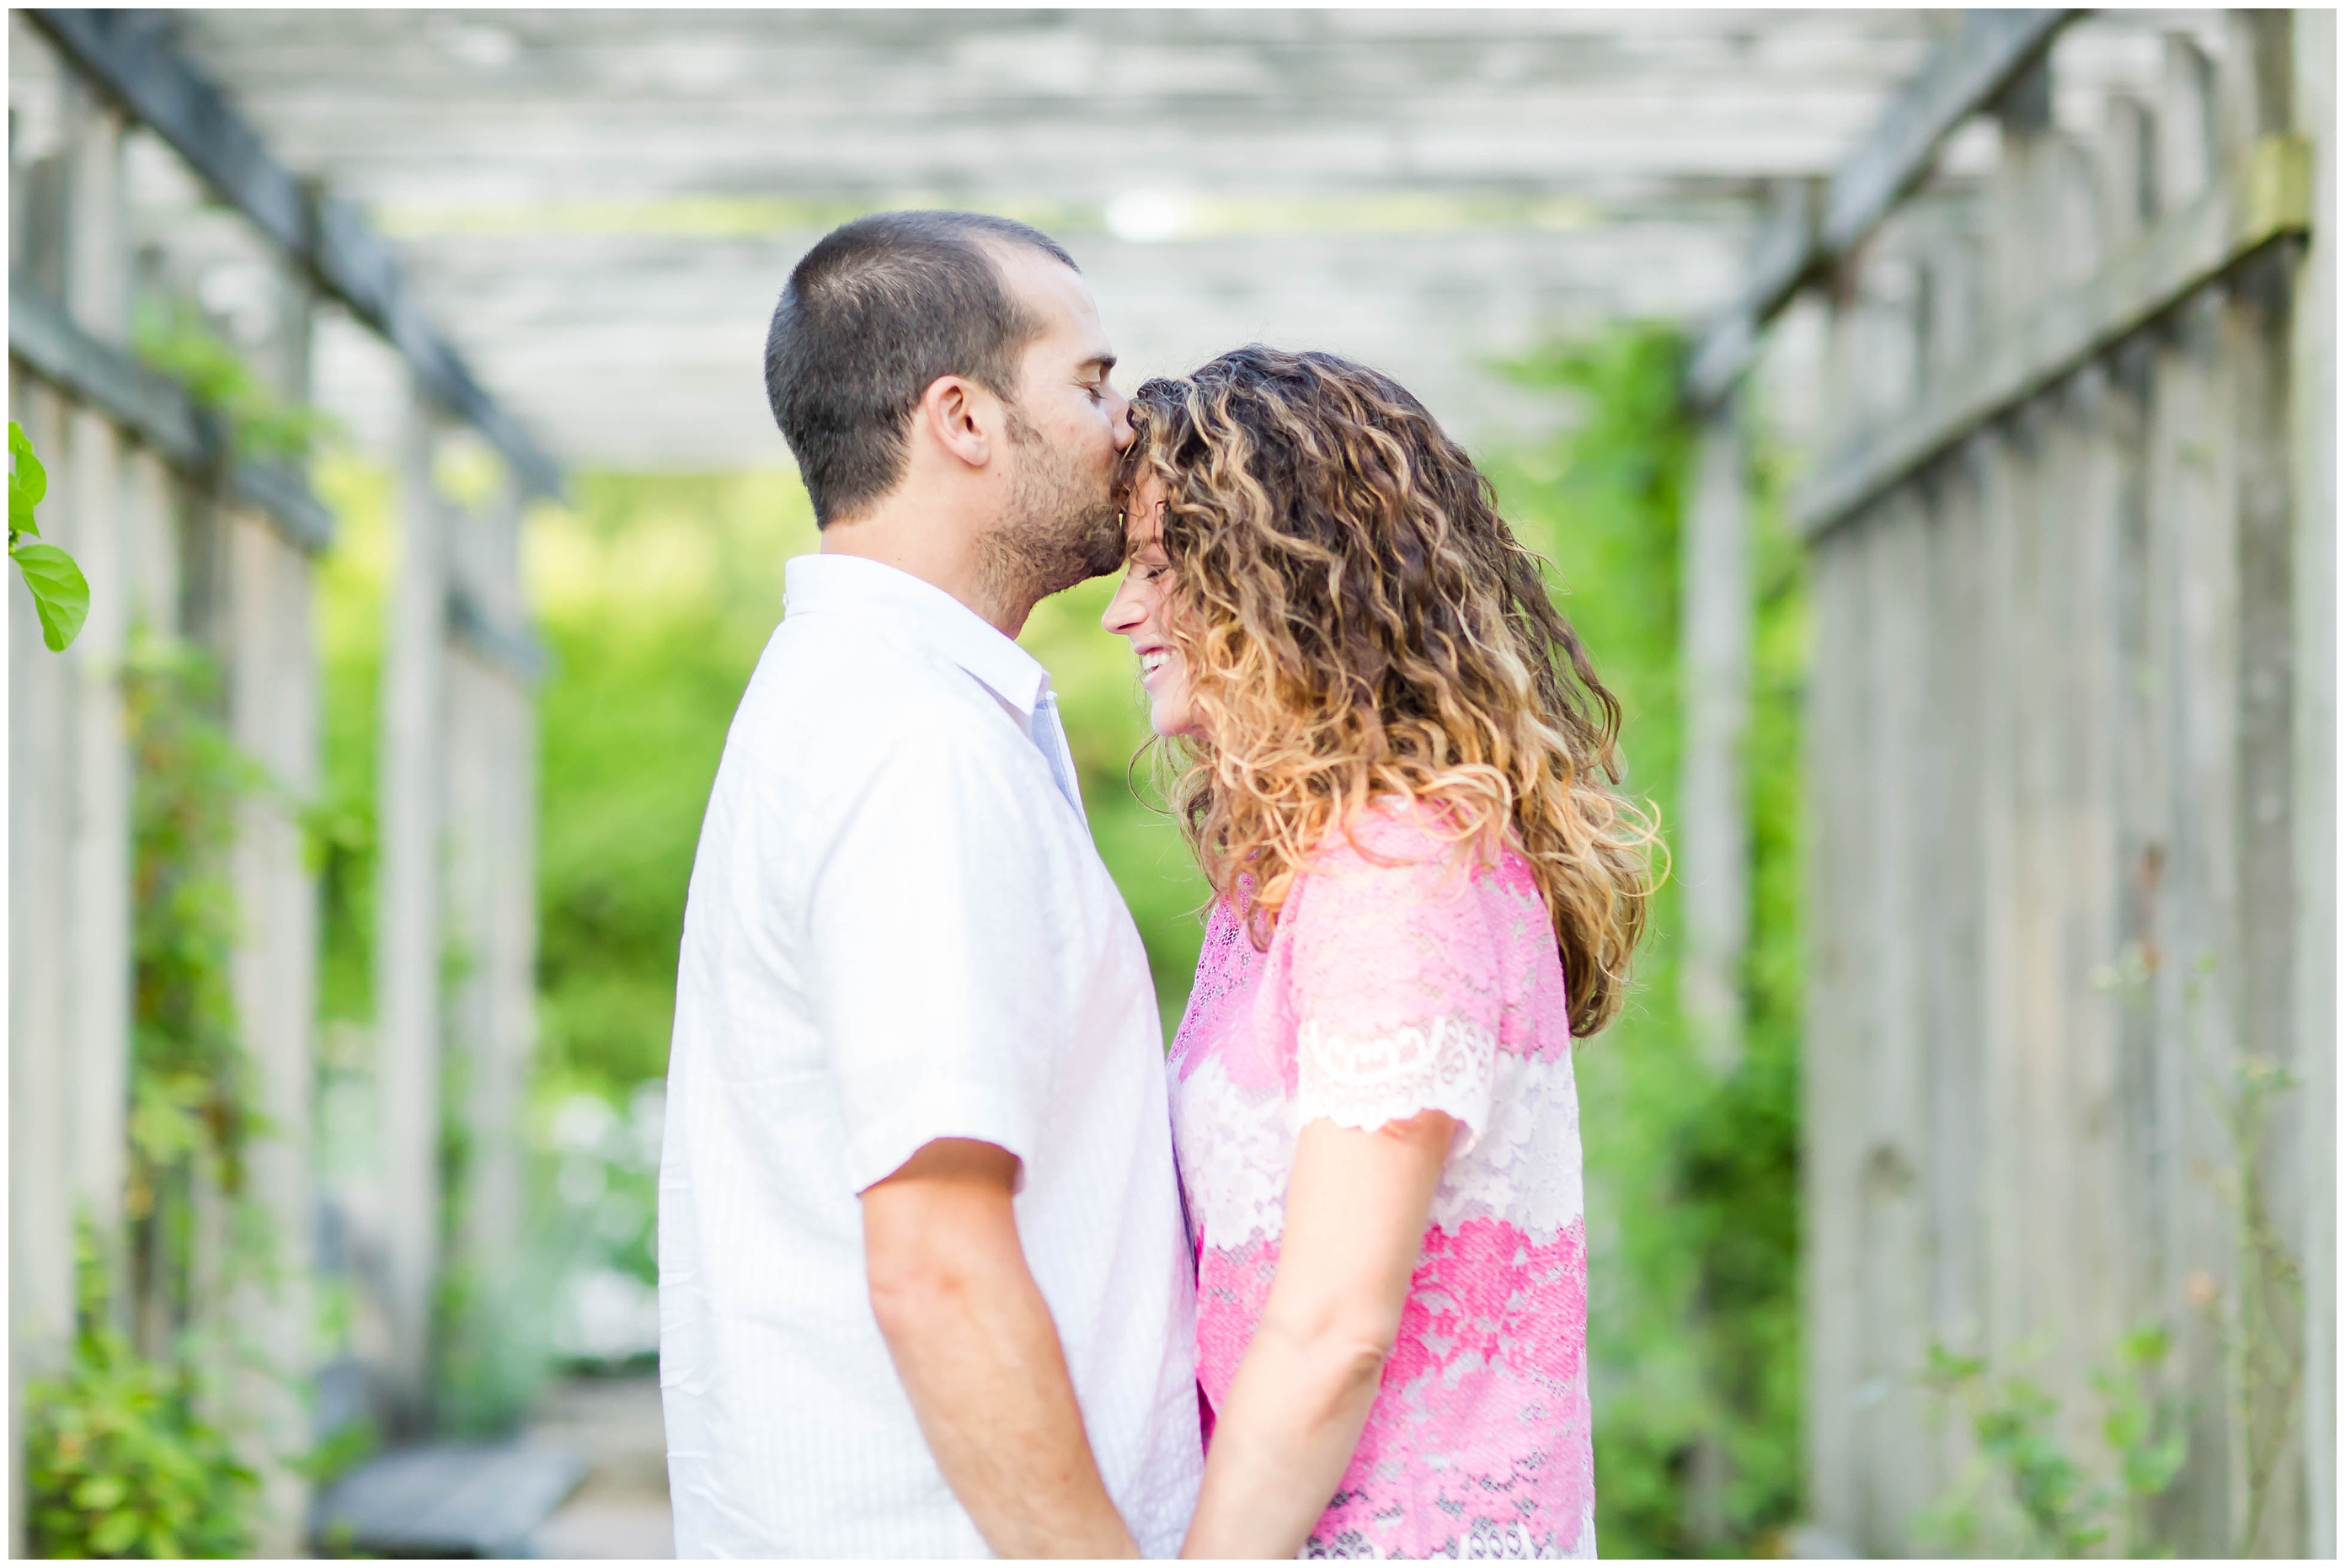
[[[854,1188],[922,1144],[1034,1153],[1067,1001],[1069,919],[1053,846],[999,748],[905,736],[858,778],[807,900],[809,984],[847,1125]]]

